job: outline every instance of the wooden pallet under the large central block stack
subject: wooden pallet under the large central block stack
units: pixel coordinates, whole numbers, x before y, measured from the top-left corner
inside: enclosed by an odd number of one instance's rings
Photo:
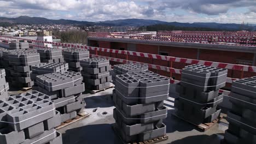
[[[123,141],[119,131],[117,130],[117,126],[115,124],[112,124],[111,126],[112,126],[112,129],[114,130],[115,134],[119,137],[119,139],[123,142],[123,144],[153,144],[153,143],[158,143],[158,142],[165,141],[165,140],[168,139],[168,136],[164,135],[164,136],[155,138],[153,140],[142,141],[142,142],[126,143],[126,142]]]

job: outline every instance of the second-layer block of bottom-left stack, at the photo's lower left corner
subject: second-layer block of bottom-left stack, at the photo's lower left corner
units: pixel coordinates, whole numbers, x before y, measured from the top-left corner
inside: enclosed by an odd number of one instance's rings
[[[25,141],[24,131],[13,131],[10,128],[0,129],[0,142],[1,144],[21,143]]]

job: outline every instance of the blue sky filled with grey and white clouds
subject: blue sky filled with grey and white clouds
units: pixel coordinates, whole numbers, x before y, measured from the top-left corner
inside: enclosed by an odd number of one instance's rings
[[[256,24],[256,0],[0,0],[1,17]]]

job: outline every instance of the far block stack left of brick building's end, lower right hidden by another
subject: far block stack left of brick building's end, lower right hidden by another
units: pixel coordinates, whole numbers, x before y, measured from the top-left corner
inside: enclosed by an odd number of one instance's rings
[[[82,67],[80,61],[89,58],[89,51],[85,49],[65,49],[62,52],[65,62],[69,65],[69,70],[80,72]]]

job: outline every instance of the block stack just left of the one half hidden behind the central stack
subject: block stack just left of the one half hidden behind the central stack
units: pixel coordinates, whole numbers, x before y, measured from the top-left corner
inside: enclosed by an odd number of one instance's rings
[[[80,61],[85,89],[100,90],[110,87],[112,76],[109,74],[111,66],[106,58],[89,58]]]

